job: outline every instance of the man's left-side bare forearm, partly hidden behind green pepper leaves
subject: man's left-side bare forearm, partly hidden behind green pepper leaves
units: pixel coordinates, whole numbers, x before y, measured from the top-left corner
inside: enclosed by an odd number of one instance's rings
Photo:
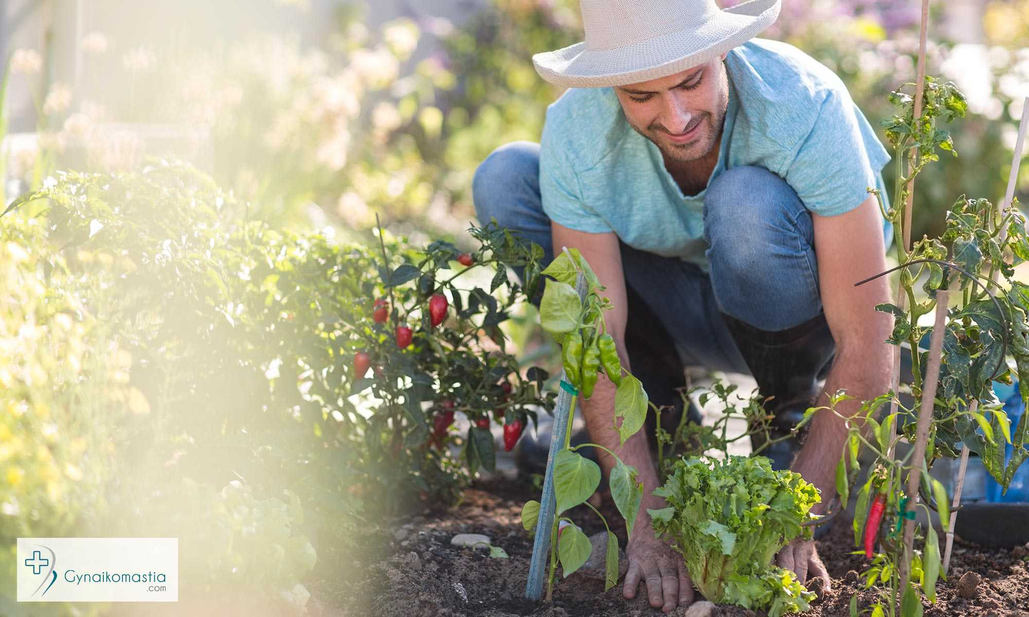
[[[650,529],[650,516],[646,513],[646,509],[663,508],[665,501],[650,495],[658,487],[658,472],[653,467],[653,460],[650,458],[650,446],[645,431],[640,430],[627,439],[625,444],[618,444],[618,432],[611,428],[614,425],[614,384],[601,374],[597,379],[593,396],[589,400],[582,401],[582,414],[586,416],[590,439],[610,449],[622,459],[623,463],[635,467],[639,472],[637,479],[643,482],[643,502],[636,518],[633,533],[635,536],[637,531]],[[598,456],[604,477],[610,477],[611,469],[614,467],[614,459],[604,450],[598,450]]]

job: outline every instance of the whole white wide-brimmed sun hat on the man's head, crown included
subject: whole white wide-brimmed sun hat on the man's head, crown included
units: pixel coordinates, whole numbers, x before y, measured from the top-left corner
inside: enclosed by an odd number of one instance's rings
[[[714,0],[581,0],[586,41],[532,62],[543,79],[568,87],[667,77],[757,36],[779,16],[780,2],[720,9]]]

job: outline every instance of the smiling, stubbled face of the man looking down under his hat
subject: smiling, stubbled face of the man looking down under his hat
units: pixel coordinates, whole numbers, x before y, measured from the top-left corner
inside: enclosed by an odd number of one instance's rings
[[[724,59],[722,55],[668,77],[615,87],[629,124],[673,160],[703,158],[715,147],[725,119]]]

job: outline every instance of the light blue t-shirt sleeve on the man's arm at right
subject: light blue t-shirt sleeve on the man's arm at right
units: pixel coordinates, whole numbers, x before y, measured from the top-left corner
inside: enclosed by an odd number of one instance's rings
[[[868,198],[890,155],[846,92],[830,92],[802,139],[784,178],[804,206],[833,216]]]

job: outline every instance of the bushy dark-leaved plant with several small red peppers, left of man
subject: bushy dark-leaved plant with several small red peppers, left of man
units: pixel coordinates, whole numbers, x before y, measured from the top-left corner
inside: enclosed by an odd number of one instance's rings
[[[361,423],[369,456],[423,493],[454,486],[448,478],[462,462],[471,474],[480,468],[494,471],[490,426],[503,425],[504,447],[510,450],[528,421],[536,421],[532,407],[551,410],[556,398],[542,391],[545,370],[522,371],[505,353],[500,330],[514,304],[536,294],[542,248],[495,220],[472,226],[469,233],[481,245],[471,253],[435,241],[423,251],[389,255],[381,243],[371,270],[378,277],[347,282],[367,304],[364,316],[355,311],[345,343],[353,358],[348,398],[365,393],[381,401]],[[517,265],[525,267],[524,287],[507,276],[507,268]],[[489,268],[496,269],[488,290],[460,286],[459,278]],[[507,293],[498,299],[494,292],[504,287]],[[496,349],[481,343],[484,334]],[[344,405],[353,408],[349,401]],[[457,412],[470,423],[460,436],[453,431]],[[460,461],[451,458],[452,442],[460,444]]]

